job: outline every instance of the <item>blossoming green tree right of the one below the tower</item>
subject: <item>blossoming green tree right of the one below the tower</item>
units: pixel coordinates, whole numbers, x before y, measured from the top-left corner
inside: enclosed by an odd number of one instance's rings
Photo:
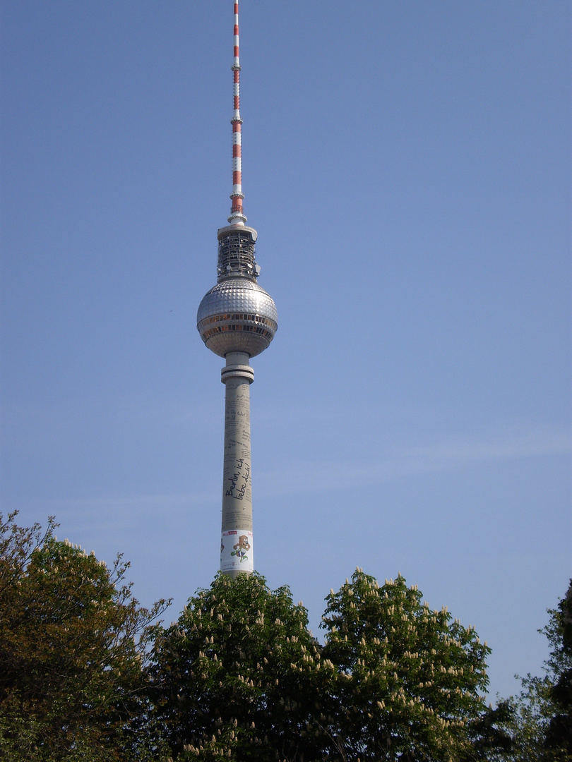
[[[348,760],[458,760],[483,712],[490,653],[474,629],[432,611],[403,577],[357,570],[330,592],[323,657],[336,666],[333,751]]]

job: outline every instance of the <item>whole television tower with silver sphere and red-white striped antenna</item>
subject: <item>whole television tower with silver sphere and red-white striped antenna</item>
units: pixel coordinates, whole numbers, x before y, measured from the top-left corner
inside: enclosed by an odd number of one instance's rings
[[[198,308],[197,328],[214,354],[226,359],[220,372],[225,385],[223,517],[220,571],[236,578],[254,571],[252,561],[252,493],[250,462],[250,391],[254,371],[249,359],[263,352],[278,328],[272,297],[256,282],[258,234],[246,226],[240,118],[238,0],[234,0],[233,192],[229,225],[217,231],[217,285]]]

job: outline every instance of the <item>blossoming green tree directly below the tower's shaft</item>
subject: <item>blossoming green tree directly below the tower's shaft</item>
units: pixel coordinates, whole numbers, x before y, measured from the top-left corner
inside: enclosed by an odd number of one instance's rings
[[[333,664],[287,587],[218,575],[157,629],[154,656],[156,716],[176,759],[322,758]]]

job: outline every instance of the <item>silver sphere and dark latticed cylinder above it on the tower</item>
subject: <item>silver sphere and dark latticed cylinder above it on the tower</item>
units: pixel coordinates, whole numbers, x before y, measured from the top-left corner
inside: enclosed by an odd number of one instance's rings
[[[276,306],[256,283],[260,268],[255,263],[255,229],[244,225],[220,228],[217,285],[208,291],[198,308],[197,329],[214,354],[263,352],[278,328]]]

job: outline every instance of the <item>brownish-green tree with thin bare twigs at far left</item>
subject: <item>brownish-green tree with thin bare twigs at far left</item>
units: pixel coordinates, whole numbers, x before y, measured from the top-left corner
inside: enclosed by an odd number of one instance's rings
[[[140,607],[121,557],[108,568],[55,526],[42,534],[0,515],[0,757],[129,760],[165,601]]]

